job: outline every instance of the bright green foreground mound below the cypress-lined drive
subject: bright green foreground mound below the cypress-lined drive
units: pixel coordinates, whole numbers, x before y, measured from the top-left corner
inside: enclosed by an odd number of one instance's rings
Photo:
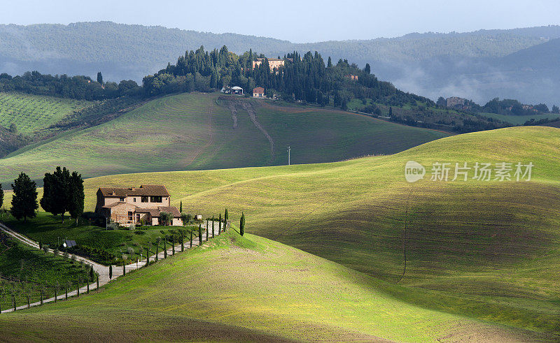
[[[3,314],[0,333],[62,341],[551,339],[409,305],[379,291],[386,286],[394,287],[230,230],[101,293]]]

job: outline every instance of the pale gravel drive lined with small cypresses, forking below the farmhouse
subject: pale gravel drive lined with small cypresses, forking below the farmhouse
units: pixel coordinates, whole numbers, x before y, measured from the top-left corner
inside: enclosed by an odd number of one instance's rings
[[[211,234],[211,230],[214,228],[214,232],[216,235],[219,235],[218,233],[218,221],[210,221],[209,222],[211,224],[211,226],[209,226],[209,236],[212,237]],[[202,224],[202,227],[204,228],[204,230],[202,231],[202,242],[206,242],[208,240],[207,235],[206,235],[206,224]],[[227,226],[226,226],[227,227]],[[30,240],[29,238],[25,237],[25,235],[22,235],[16,231],[13,231],[11,228],[9,228],[8,226],[6,226],[3,223],[0,223],[0,231],[2,231],[3,233],[6,233],[7,235],[10,235],[12,238],[14,238],[15,240],[19,240],[20,242],[22,242],[25,245],[29,245],[29,247],[33,247],[36,249],[39,249],[39,244],[38,242],[35,242],[34,240]],[[186,243],[186,247],[185,249],[190,249],[190,247],[188,246],[190,243],[190,240],[188,243]],[[200,241],[199,238],[193,238],[193,247],[197,247],[198,245],[200,245]],[[52,254],[54,251],[52,251],[52,249],[48,249],[48,251]],[[175,253],[178,254],[181,252],[181,243],[179,243],[179,245],[175,246]],[[167,256],[172,256],[173,254],[173,247],[169,247],[169,249],[167,249]],[[93,266],[93,270],[95,272],[97,272],[97,274],[99,275],[99,286],[104,286],[106,284],[109,284],[109,282],[111,282],[112,280],[120,277],[123,275],[123,266],[122,265],[113,265],[113,278],[109,279],[109,266],[107,265],[101,265],[97,262],[91,261],[90,259],[87,259],[85,257],[82,256],[78,256],[76,254],[70,254],[69,256],[76,256],[76,261],[83,261],[83,263],[87,264],[87,265],[92,265]],[[159,251],[158,252],[158,259],[163,259],[165,257],[165,253],[164,251]],[[148,257],[149,261],[151,263],[153,263],[153,261],[155,261],[155,254]],[[127,272],[131,272],[132,270],[137,270],[139,268],[144,267],[144,265],[146,265],[146,259],[142,260],[142,261],[138,261],[138,263],[131,263],[129,265],[125,266],[125,269]],[[92,282],[90,285],[90,290],[94,290],[97,288],[97,282]],[[80,288],[80,294],[83,293],[87,293],[87,284],[84,284],[83,287]],[[74,289],[73,291],[69,291],[68,292],[68,296],[74,296],[74,295],[78,295],[78,290]],[[57,300],[64,300],[64,298],[66,298],[65,294],[62,295],[57,295]],[[55,301],[55,297],[52,298],[48,298],[43,300],[43,303],[46,302],[54,302]],[[33,306],[38,306],[41,305],[41,302],[32,302],[31,305],[29,305],[30,307]],[[22,305],[22,306],[18,306],[16,307],[17,310],[20,309],[27,309],[27,305]],[[6,312],[13,312],[13,308],[11,309],[2,309],[2,313],[6,313]]]

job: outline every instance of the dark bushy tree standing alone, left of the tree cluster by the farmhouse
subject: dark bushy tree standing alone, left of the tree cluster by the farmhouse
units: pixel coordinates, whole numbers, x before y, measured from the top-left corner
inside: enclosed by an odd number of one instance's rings
[[[14,180],[12,189],[12,215],[18,220],[23,218],[23,221],[35,217],[35,210],[39,207],[37,203],[37,184],[31,181],[25,173],[21,173]]]

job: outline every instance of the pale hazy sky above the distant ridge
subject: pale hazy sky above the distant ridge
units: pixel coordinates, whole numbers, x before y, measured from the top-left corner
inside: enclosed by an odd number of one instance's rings
[[[559,0],[0,0],[0,24],[111,20],[295,43],[560,24]]]

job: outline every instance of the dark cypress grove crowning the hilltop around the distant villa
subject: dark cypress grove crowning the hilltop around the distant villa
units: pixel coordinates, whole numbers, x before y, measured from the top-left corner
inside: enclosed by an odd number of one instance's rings
[[[209,92],[224,86],[240,86],[251,92],[254,87],[263,87],[267,96],[276,94],[286,101],[305,101],[326,105],[332,99],[335,107],[346,109],[351,98],[372,98],[377,103],[400,106],[416,103],[416,100],[433,105],[428,98],[416,96],[396,89],[390,82],[377,80],[371,74],[369,64],[360,69],[340,59],[327,64],[321,54],[297,52],[283,57],[284,66],[271,71],[267,59],[253,68],[256,58],[264,56],[252,50],[237,55],[220,50],[205,51],[204,47],[186,52],[175,65],[168,64],[154,75],[143,80],[147,95],[190,92]]]

